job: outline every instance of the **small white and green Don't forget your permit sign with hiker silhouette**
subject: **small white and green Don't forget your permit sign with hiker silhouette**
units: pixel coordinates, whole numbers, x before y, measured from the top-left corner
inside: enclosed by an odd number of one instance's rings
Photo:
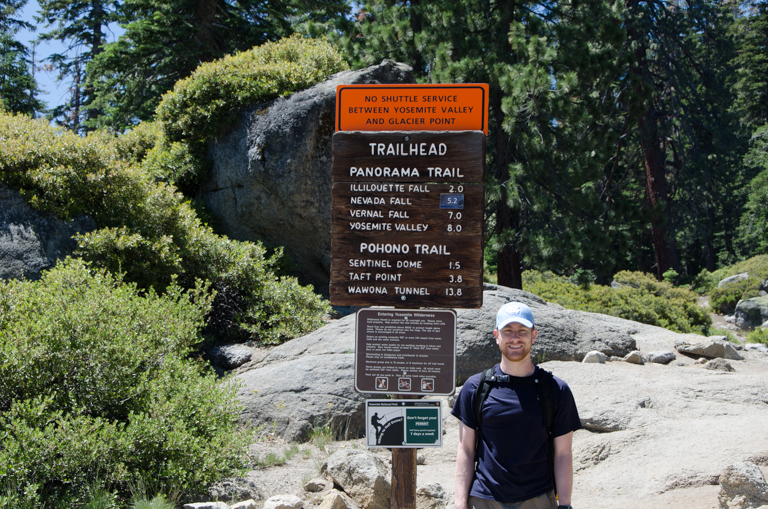
[[[365,402],[368,447],[441,447],[443,419],[439,400]]]

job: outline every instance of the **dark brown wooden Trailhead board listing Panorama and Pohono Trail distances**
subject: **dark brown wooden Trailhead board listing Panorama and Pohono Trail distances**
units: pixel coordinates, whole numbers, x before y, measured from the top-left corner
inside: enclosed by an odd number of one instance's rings
[[[485,135],[333,136],[330,299],[482,305]]]

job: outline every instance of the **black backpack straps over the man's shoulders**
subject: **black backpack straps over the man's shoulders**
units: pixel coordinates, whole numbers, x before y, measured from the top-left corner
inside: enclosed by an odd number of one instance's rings
[[[491,384],[509,383],[515,381],[517,383],[534,383],[536,384],[536,390],[538,391],[538,400],[541,403],[541,413],[544,416],[544,425],[547,429],[547,464],[549,465],[549,472],[552,475],[552,485],[555,487],[555,494],[557,494],[557,483],[555,482],[555,437],[552,434],[552,425],[555,417],[555,400],[552,397],[552,378],[551,372],[546,369],[538,368],[536,370],[537,377],[533,382],[528,380],[523,381],[516,377],[509,375],[494,375],[494,368],[488,368],[480,375],[480,382],[477,384],[475,390],[475,397],[473,400],[475,410],[475,422],[477,423],[477,432],[475,433],[475,451],[477,451],[480,445],[480,433],[483,424],[483,403],[488,398],[488,394],[491,392]]]

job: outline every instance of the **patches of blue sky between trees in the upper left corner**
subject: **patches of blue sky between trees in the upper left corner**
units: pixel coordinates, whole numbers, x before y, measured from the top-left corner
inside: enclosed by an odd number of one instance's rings
[[[19,16],[24,21],[32,24],[37,25],[37,23],[34,20],[34,16],[39,11],[40,6],[37,3],[37,0],[29,0],[27,2],[27,5],[24,6],[24,8],[21,11],[21,15]],[[51,27],[53,28],[53,27]],[[110,27],[111,30],[107,31],[107,41],[112,42],[117,37],[119,37],[120,34],[123,33],[123,30],[115,25],[114,27]],[[30,48],[30,56],[31,56],[31,49],[32,49],[32,41],[34,41],[41,32],[46,32],[49,29],[45,27],[45,25],[42,25],[38,27],[37,32],[31,32],[29,30],[22,30],[17,34],[18,40],[25,44],[28,48]],[[53,54],[53,53],[61,53],[65,49],[65,46],[60,43],[59,41],[45,41],[41,42],[37,45],[37,48],[35,49],[35,62],[37,67],[41,67],[45,62],[43,61],[44,58],[47,56]],[[48,108],[53,108],[55,106],[58,106],[62,103],[64,103],[67,100],[68,92],[67,89],[69,87],[69,82],[64,81],[62,83],[58,83],[56,81],[57,74],[55,71],[53,72],[46,72],[46,71],[36,71],[35,72],[35,79],[37,80],[38,85],[40,86],[43,91],[40,93],[40,100],[45,101]]]

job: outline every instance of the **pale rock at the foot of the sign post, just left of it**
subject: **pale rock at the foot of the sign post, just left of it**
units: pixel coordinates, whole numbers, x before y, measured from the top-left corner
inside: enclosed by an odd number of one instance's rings
[[[368,451],[337,451],[328,457],[321,471],[363,509],[389,509],[389,472],[384,462]]]

